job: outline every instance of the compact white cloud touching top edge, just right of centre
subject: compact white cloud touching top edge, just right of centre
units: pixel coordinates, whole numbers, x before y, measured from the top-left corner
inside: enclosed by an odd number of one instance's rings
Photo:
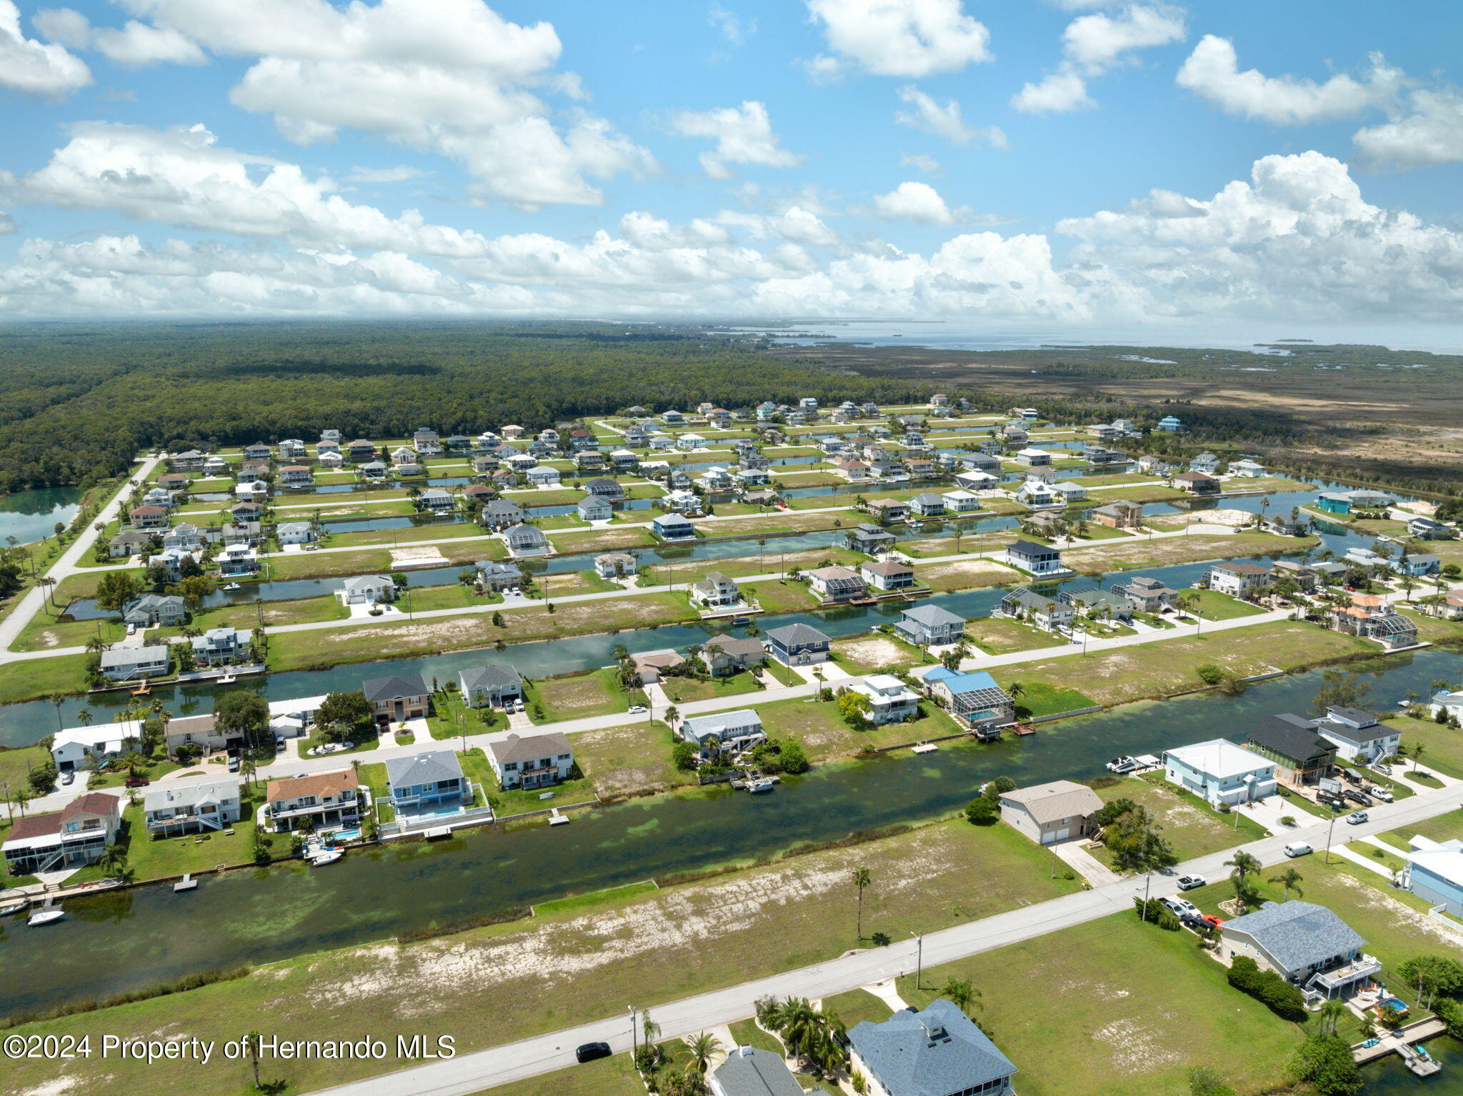
[[[929,76],[992,59],[990,32],[966,15],[960,0],[806,3],[828,48],[875,76]]]

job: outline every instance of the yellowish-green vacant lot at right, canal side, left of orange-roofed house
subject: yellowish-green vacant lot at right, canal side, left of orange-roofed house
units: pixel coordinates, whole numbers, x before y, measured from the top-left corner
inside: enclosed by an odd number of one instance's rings
[[[1241,632],[1160,639],[1100,654],[1067,656],[1008,667],[1028,689],[1046,682],[1077,689],[1094,704],[1122,704],[1167,697],[1203,685],[1195,666],[1214,663],[1241,678],[1274,666],[1299,670],[1377,648],[1349,635],[1325,632],[1296,620],[1276,620]],[[996,679],[1007,682],[1002,673]]]

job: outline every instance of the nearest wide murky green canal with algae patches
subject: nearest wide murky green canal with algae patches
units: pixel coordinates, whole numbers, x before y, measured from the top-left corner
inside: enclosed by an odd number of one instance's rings
[[[1428,650],[1358,669],[1372,679],[1372,704],[1385,708],[1437,678],[1456,678],[1463,656]],[[1235,697],[1200,694],[1062,720],[993,745],[947,743],[917,757],[821,765],[767,796],[660,796],[578,812],[566,827],[468,831],[442,843],[353,852],[329,871],[287,865],[205,878],[189,894],[162,884],[69,898],[70,916],[45,932],[0,920],[0,1014],[775,856],[799,843],[952,812],[996,776],[1018,784],[1091,780],[1113,755],[1242,739],[1271,713],[1306,711],[1320,683],[1320,672],[1311,672]]]

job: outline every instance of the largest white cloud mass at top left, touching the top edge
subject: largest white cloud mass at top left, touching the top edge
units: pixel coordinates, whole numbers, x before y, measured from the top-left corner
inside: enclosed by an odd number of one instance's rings
[[[0,0],[10,3],[10,0]],[[91,28],[61,9],[60,35],[142,64],[249,59],[234,105],[274,117],[290,140],[375,133],[462,164],[473,198],[518,208],[595,205],[597,183],[655,168],[645,149],[579,107],[565,121],[546,95],[584,98],[556,66],[562,42],[547,22],[514,23],[483,0],[124,0],[120,31]]]

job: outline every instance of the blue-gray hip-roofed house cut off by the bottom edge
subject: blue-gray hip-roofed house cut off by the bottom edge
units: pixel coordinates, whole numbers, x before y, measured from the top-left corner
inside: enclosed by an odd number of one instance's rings
[[[853,1068],[887,1096],[1011,1092],[1017,1068],[970,1017],[945,998],[923,1013],[900,1010],[882,1024],[865,1020],[849,1032]]]

